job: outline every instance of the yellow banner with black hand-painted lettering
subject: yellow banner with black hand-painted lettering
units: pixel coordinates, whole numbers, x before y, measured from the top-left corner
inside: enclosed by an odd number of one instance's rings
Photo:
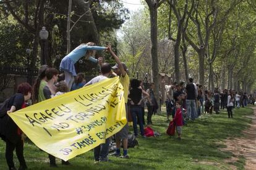
[[[124,89],[118,77],[9,116],[36,146],[65,161],[104,143],[127,123]]]

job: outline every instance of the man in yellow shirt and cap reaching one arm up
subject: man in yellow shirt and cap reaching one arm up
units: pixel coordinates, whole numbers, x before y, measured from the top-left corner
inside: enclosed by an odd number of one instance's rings
[[[127,75],[127,67],[125,63],[122,63],[119,57],[113,52],[111,46],[108,46],[108,51],[113,56],[114,60],[116,60],[116,65],[112,67],[114,69],[114,73],[119,76],[120,82],[122,86],[124,87],[124,100],[126,102],[126,119],[128,119],[128,93],[129,93],[129,84],[130,84],[130,78]],[[128,123],[126,126],[124,126],[121,131],[117,132],[116,134],[116,152],[111,154],[112,156],[120,156],[121,158],[129,158],[128,155]],[[124,153],[123,156],[121,156],[120,148],[121,148],[121,140],[124,147]]]

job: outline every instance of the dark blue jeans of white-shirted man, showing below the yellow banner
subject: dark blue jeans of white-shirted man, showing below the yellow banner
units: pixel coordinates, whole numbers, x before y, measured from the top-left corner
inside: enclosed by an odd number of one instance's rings
[[[110,144],[110,138],[106,139],[105,144],[100,144],[98,145],[98,147],[95,147],[93,149],[95,161],[99,161],[99,160],[104,161],[108,159],[107,156],[108,156],[109,144]]]

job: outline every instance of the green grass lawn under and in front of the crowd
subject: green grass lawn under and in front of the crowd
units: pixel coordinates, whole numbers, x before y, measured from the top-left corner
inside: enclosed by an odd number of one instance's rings
[[[220,148],[226,146],[220,141],[242,136],[242,131],[251,123],[245,116],[252,114],[251,108],[240,108],[234,110],[233,119],[228,119],[226,110],[220,115],[203,115],[183,126],[181,141],[176,139],[177,136],[165,134],[168,127],[165,113],[155,115],[151,127],[162,136],[139,137],[139,148],[129,149],[129,160],[110,158],[109,163],[94,164],[90,151],[70,160],[70,166],[61,165],[57,159],[58,168],[49,168],[48,154],[29,142],[25,143],[25,160],[29,169],[230,169],[230,164],[224,160],[231,158],[232,153],[221,151]],[[5,143],[0,141],[0,169],[7,169],[4,153]],[[16,156],[14,161],[19,168]],[[242,169],[244,163],[241,157],[233,165]]]

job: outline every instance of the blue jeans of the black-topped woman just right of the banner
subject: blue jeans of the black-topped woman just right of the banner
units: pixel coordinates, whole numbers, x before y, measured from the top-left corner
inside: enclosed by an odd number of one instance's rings
[[[137,117],[139,120],[139,126],[140,126],[140,134],[144,136],[144,127],[143,127],[143,121],[142,121],[142,108],[140,106],[131,106],[130,107],[130,113],[132,114],[132,124],[134,126],[134,135],[138,135],[138,128],[137,128]]]

